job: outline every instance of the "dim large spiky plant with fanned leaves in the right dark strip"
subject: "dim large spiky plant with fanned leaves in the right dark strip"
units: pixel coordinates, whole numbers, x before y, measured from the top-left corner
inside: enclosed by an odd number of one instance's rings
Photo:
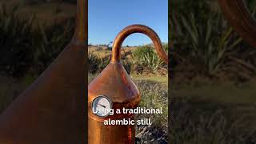
[[[173,17],[175,28],[174,46],[185,45],[187,54],[193,55],[207,74],[214,74],[226,58],[226,52],[234,50],[242,38],[234,36],[221,14],[210,14],[205,22],[197,22],[194,14]],[[176,49],[178,49],[177,47]]]

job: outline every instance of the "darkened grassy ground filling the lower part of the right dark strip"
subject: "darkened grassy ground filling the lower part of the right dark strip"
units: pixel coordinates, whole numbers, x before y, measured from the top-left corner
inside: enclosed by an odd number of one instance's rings
[[[232,82],[176,85],[170,82],[170,89],[171,142],[256,142],[254,82],[239,85]]]

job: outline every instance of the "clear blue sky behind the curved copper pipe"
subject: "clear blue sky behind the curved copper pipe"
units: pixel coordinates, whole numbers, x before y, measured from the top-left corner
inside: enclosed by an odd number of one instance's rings
[[[168,42],[168,0],[89,0],[89,43],[108,44],[126,26],[142,24]],[[132,34],[123,46],[151,43],[144,34]]]

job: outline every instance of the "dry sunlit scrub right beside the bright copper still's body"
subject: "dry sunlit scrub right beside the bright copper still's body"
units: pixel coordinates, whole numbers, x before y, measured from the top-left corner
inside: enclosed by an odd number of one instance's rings
[[[168,90],[162,84],[148,81],[135,82],[141,92],[142,102],[140,107],[160,108],[163,114],[138,114],[138,119],[150,118],[151,126],[137,126],[137,138],[139,143],[167,143],[168,127]]]

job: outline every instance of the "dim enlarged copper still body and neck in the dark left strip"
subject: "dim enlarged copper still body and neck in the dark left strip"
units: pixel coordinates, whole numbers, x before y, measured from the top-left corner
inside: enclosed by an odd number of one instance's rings
[[[70,44],[0,115],[1,144],[86,142],[87,0],[78,0]]]

